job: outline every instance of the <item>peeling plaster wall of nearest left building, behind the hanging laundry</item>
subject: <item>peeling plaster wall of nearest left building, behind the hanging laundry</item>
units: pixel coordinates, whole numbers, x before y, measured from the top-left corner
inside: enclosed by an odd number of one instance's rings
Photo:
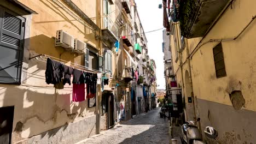
[[[83,64],[83,56],[65,52],[62,47],[54,46],[56,31],[60,29],[90,43],[96,49],[100,49],[98,40],[95,40],[95,35],[88,28],[75,21],[53,1],[20,0],[20,2],[38,14],[22,15],[26,17],[22,84],[0,84],[0,107],[14,106],[12,143],[48,143],[48,139],[53,143],[72,143],[71,140],[82,140],[89,136],[89,133],[95,134],[95,107],[88,108],[87,100],[80,103],[72,102],[72,86],[66,84],[64,89],[55,89],[53,85],[47,85],[44,74],[46,63],[36,59],[28,61],[28,58],[43,53]],[[97,7],[95,2],[89,5],[83,4],[80,5],[83,9]],[[14,9],[13,5],[5,1],[1,2],[1,5],[19,13],[18,9]],[[95,11],[85,11],[85,13],[90,16],[95,15]],[[60,129],[56,130],[56,128]],[[50,131],[53,130],[57,133],[54,136],[56,139],[45,137],[46,133],[51,133]],[[71,131],[74,135],[77,134],[77,137],[71,135]]]

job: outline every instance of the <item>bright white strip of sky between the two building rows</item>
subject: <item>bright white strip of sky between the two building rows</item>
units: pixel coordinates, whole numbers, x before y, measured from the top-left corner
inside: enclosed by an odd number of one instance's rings
[[[139,19],[144,32],[153,31],[163,28],[162,26],[162,9],[158,5],[162,3],[160,0],[135,0]],[[163,29],[162,29],[163,30]],[[148,55],[155,60],[156,79],[158,89],[165,89],[164,78],[164,53],[162,53],[162,30],[146,33],[148,40]]]

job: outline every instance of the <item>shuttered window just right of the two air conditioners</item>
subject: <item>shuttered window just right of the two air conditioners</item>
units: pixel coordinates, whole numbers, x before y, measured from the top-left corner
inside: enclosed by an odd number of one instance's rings
[[[98,55],[97,50],[91,45],[87,44],[86,46],[85,67],[103,71],[103,57]]]

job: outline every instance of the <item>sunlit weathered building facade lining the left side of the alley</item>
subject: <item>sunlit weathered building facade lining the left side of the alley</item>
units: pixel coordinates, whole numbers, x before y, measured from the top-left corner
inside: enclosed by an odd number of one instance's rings
[[[135,8],[133,1],[1,1],[0,115],[7,125],[0,143],[75,143],[138,115]],[[63,33],[72,49],[56,45]],[[78,41],[83,51],[75,50]],[[93,99],[74,102],[72,85],[45,83],[46,58],[107,82],[96,85]]]

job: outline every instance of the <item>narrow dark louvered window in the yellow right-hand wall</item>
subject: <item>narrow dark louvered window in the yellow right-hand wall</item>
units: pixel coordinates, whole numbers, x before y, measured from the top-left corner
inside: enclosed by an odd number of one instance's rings
[[[216,77],[226,76],[226,69],[224,63],[224,56],[222,51],[222,43],[219,43],[213,48],[213,58],[216,71]]]

